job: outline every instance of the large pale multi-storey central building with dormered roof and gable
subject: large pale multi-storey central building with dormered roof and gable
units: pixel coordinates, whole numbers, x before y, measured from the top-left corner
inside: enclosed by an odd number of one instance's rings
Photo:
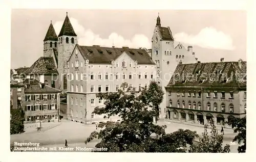
[[[123,83],[137,90],[155,79],[156,66],[145,49],[76,45],[68,61],[67,106],[69,118],[103,120],[92,112],[103,106],[99,92],[117,92]],[[125,91],[125,89],[123,89]],[[112,117],[111,120],[119,119]]]

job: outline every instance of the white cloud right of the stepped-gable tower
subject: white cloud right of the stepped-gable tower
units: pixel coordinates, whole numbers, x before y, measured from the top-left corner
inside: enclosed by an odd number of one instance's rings
[[[212,27],[202,29],[197,35],[188,35],[183,32],[177,33],[174,35],[174,38],[176,41],[189,45],[198,45],[203,48],[234,49],[232,38]]]

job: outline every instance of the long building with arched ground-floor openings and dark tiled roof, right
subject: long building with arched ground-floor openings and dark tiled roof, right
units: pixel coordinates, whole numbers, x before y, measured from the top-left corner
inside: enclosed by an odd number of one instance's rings
[[[223,59],[222,59],[223,60]],[[165,87],[166,118],[217,126],[246,116],[246,62],[179,64]]]

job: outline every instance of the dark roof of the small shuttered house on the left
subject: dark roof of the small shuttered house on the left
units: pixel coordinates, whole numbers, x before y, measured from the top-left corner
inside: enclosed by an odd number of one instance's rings
[[[44,88],[41,88],[39,85],[39,81],[35,79],[26,79],[25,84],[30,84],[30,88],[25,87],[25,93],[40,93],[40,92],[61,92],[58,89],[52,88],[50,86],[45,85]]]

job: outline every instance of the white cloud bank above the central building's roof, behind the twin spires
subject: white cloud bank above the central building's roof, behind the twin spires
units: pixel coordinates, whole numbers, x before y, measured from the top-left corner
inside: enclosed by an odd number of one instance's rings
[[[84,29],[77,19],[71,17],[70,21],[77,34],[79,45],[100,45],[112,47],[114,44],[115,47],[128,46],[133,48],[151,48],[150,40],[148,40],[148,38],[143,34],[136,34],[131,40],[125,39],[115,32],[111,33],[108,38],[100,38],[100,36],[93,33],[91,29]],[[57,34],[60,32],[62,24],[63,21],[57,21],[54,23],[54,29]]]

